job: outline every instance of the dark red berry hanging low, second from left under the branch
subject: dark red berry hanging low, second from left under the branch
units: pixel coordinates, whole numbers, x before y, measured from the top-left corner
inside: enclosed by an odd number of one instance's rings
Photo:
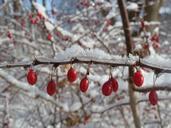
[[[56,93],[56,83],[54,80],[49,81],[47,85],[47,93],[52,96]]]

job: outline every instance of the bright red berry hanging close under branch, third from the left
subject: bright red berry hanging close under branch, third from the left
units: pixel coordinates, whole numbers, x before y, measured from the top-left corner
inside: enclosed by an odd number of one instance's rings
[[[67,78],[69,82],[74,82],[77,79],[77,71],[74,68],[70,68],[67,73]]]

